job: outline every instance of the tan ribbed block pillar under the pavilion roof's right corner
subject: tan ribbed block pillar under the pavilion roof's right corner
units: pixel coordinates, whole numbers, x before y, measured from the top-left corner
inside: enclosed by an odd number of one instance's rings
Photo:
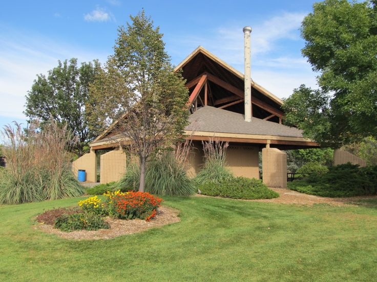
[[[263,183],[268,187],[287,187],[287,154],[276,148],[262,149]]]

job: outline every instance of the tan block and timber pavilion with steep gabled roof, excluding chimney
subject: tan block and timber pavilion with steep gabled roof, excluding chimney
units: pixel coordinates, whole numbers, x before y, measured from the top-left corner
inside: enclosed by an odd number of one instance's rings
[[[248,104],[252,116],[250,122],[245,121],[244,75],[202,46],[175,68],[178,71],[182,71],[190,90],[190,124],[184,134],[194,144],[189,163],[192,176],[201,169],[201,142],[205,140],[229,142],[227,166],[236,176],[259,178],[259,152],[263,151],[263,180],[270,186],[286,185],[286,154],[280,150],[319,147],[304,138],[297,128],[283,125],[283,102],[253,81]],[[116,149],[118,138],[120,134],[111,127],[103,132],[90,144],[91,153],[74,163],[74,170],[89,168],[88,180],[95,181],[95,152]],[[88,166],[89,162],[92,164]],[[125,169],[125,155],[121,151],[101,156],[102,183],[118,180]]]

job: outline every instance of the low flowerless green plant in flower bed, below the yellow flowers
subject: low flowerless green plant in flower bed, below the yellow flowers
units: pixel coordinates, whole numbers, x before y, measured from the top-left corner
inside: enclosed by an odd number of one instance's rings
[[[110,225],[98,215],[80,213],[58,217],[54,227],[61,231],[71,232],[75,230],[109,229]]]

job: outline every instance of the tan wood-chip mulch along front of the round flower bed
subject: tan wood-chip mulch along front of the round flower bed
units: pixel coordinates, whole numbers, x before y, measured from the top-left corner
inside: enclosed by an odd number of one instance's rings
[[[157,215],[151,221],[145,221],[141,219],[133,220],[121,220],[106,218],[106,221],[110,224],[110,229],[99,229],[95,231],[78,230],[72,232],[64,232],[54,228],[52,225],[37,223],[34,225],[41,231],[56,234],[64,239],[73,240],[100,240],[111,239],[122,235],[138,233],[153,227],[158,227],[166,224],[179,222],[178,217],[179,210],[162,206],[157,210]]]

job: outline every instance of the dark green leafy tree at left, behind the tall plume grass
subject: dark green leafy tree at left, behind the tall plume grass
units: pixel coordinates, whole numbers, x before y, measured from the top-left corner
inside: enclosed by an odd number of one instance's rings
[[[85,103],[89,98],[89,84],[101,69],[97,60],[77,65],[77,59],[58,61],[48,75],[37,75],[37,79],[26,96],[25,114],[32,120],[41,121],[43,128],[50,116],[78,137],[72,149],[81,156],[85,147],[99,134],[98,126],[89,127]]]

